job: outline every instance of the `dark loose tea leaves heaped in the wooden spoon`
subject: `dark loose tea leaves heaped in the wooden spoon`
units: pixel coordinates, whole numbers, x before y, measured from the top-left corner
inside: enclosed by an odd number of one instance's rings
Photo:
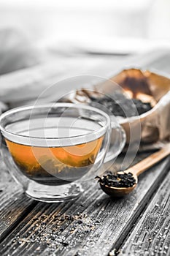
[[[133,187],[136,184],[136,180],[133,177],[132,173],[107,173],[102,177],[98,178],[98,182],[100,182],[104,186],[109,187]]]

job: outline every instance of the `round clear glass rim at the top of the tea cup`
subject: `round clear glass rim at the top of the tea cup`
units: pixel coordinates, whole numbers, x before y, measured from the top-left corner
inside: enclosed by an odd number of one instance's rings
[[[107,120],[106,126],[101,127],[95,131],[92,132],[88,132],[87,134],[83,134],[83,135],[75,135],[75,136],[67,136],[67,137],[63,137],[63,138],[58,138],[58,137],[50,137],[50,138],[45,138],[45,137],[36,137],[36,136],[31,136],[31,135],[20,135],[17,132],[9,132],[8,129],[6,129],[5,127],[3,127],[3,125],[1,124],[1,122],[4,120],[4,118],[6,118],[7,116],[11,116],[12,114],[16,114],[19,113],[21,111],[25,111],[25,110],[30,110],[30,116],[31,116],[31,110],[34,109],[43,109],[43,108],[62,108],[62,107],[67,107],[67,108],[80,108],[80,109],[85,109],[85,110],[93,110],[96,113],[101,114],[101,116],[104,116]],[[2,113],[0,116],[0,130],[1,132],[11,135],[12,137],[15,136],[15,138],[23,138],[23,139],[36,139],[36,140],[64,140],[64,139],[68,139],[68,138],[84,138],[85,136],[89,136],[89,135],[98,135],[101,134],[102,132],[105,132],[107,130],[108,127],[110,127],[111,125],[111,120],[110,117],[107,113],[105,113],[103,110],[100,110],[98,108],[94,108],[91,107],[89,105],[85,105],[82,103],[78,103],[78,104],[74,104],[74,103],[65,103],[65,102],[50,102],[47,104],[41,104],[41,105],[27,105],[27,106],[22,106],[22,107],[18,107],[18,108],[13,108],[12,110],[7,110],[5,113]]]

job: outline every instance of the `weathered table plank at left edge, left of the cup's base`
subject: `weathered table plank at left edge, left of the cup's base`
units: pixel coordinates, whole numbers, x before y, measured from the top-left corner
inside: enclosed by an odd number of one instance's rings
[[[0,176],[0,241],[34,208],[36,202],[23,195],[21,187],[1,162]]]

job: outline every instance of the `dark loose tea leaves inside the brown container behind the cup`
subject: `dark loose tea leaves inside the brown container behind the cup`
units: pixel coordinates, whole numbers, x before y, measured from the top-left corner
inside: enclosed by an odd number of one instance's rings
[[[141,115],[149,111],[150,102],[142,102],[140,99],[128,99],[124,94],[115,93],[112,97],[90,97],[90,100],[104,105],[115,116],[131,117]],[[136,107],[136,108],[135,108]]]

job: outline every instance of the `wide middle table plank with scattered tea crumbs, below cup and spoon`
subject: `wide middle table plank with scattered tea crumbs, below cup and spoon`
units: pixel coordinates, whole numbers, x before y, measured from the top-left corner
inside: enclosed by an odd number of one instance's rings
[[[69,203],[38,203],[1,243],[0,255],[108,255],[119,248],[169,169],[169,159],[139,178],[139,186],[116,200],[89,182]]]

